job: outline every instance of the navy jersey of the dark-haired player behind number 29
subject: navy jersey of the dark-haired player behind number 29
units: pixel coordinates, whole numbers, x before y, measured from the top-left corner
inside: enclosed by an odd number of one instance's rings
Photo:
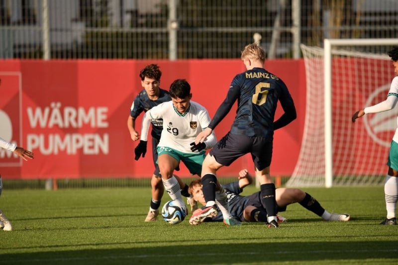
[[[141,92],[134,98],[133,104],[130,108],[130,116],[133,118],[137,118],[142,111],[147,112],[154,106],[159,105],[160,103],[170,101],[170,93],[162,88],[160,88],[159,98],[156,100],[149,99],[145,89],[142,89]],[[160,135],[162,134],[163,129],[163,119],[151,120],[152,123],[152,137],[156,139],[160,139]]]

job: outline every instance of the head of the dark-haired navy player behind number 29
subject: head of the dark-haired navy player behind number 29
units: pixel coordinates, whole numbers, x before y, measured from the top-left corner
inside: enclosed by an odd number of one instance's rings
[[[155,96],[159,94],[161,76],[162,72],[160,72],[159,66],[156,64],[148,65],[141,70],[141,86],[145,89],[149,96]]]

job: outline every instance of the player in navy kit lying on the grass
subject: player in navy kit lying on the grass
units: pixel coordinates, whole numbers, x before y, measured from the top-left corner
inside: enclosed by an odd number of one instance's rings
[[[228,198],[228,205],[231,214],[236,219],[245,222],[267,222],[267,211],[261,200],[261,192],[255,192],[249,196],[239,195],[243,188],[253,182],[253,177],[248,173],[246,169],[239,172],[237,181],[227,183],[223,185]],[[189,192],[194,196],[194,199],[205,205],[203,192],[201,188],[200,179],[193,180],[189,186]],[[337,214],[329,213],[326,211],[319,202],[308,193],[298,188],[277,188],[276,189],[276,203],[277,211],[286,211],[286,207],[289,204],[298,202],[305,209],[320,216],[323,220],[327,221],[348,221],[350,220],[349,214]],[[199,209],[198,209],[199,210]],[[197,211],[198,211],[197,210]],[[194,215],[195,211],[192,213]],[[191,217],[192,218],[192,217]],[[205,218],[200,222],[208,221],[222,221],[222,215],[220,212],[211,218]],[[278,222],[287,221],[285,218],[278,216]],[[199,223],[200,223],[199,222]],[[193,224],[193,222],[190,222]],[[195,223],[195,222],[194,222]],[[199,224],[196,223],[196,224]]]

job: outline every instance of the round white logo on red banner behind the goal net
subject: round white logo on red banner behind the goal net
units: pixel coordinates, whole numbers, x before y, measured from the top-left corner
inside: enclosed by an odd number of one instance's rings
[[[376,89],[366,101],[366,106],[372,106],[387,98],[390,85]],[[390,147],[394,132],[397,129],[398,107],[390,111],[369,113],[364,116],[364,124],[369,136],[378,144]]]

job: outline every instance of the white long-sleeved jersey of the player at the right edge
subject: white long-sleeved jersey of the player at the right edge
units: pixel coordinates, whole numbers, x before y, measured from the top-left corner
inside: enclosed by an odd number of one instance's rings
[[[365,113],[378,113],[393,109],[398,102],[398,77],[395,77],[391,82],[387,99],[370,107],[364,108]],[[398,124],[398,117],[397,117]],[[398,143],[398,126],[395,131],[393,141]]]

